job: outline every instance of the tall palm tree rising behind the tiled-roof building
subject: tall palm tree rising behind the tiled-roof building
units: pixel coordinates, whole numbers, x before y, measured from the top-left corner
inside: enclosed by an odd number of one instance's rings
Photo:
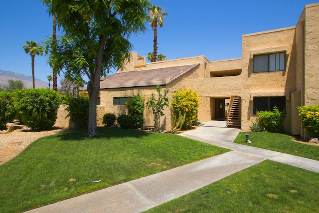
[[[156,61],[158,54],[158,25],[163,27],[164,24],[164,16],[167,15],[166,12],[162,11],[161,6],[152,5],[149,7],[150,11],[150,24],[154,30],[154,52],[153,52],[153,61]]]

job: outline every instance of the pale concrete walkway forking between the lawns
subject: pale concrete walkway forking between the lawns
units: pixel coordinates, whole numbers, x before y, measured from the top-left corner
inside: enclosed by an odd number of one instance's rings
[[[226,122],[210,121],[205,126],[179,134],[233,151],[41,207],[30,213],[137,213],[143,212],[266,159],[319,173],[319,161],[232,143],[239,129],[223,128]]]

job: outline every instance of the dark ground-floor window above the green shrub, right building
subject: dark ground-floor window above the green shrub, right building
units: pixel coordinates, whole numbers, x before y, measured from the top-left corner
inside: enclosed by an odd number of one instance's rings
[[[279,111],[286,109],[286,97],[254,97],[254,115],[257,111],[272,111],[277,106]]]

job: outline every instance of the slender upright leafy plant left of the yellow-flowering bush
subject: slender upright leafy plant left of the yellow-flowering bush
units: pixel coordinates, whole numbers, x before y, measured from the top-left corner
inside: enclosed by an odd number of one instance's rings
[[[148,107],[148,109],[152,108],[153,110],[153,115],[154,115],[154,132],[158,131],[158,125],[159,125],[159,121],[160,121],[160,117],[164,115],[163,113],[163,109],[165,106],[169,106],[168,103],[168,97],[166,96],[168,93],[168,89],[164,89],[164,95],[160,94],[160,86],[157,85],[156,86],[156,91],[159,93],[159,98],[156,99],[153,92],[152,92],[152,96],[151,96],[151,100],[149,100],[146,105]]]

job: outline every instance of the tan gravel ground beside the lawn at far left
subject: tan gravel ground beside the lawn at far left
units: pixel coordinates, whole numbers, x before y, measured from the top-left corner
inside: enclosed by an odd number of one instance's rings
[[[69,129],[59,128],[49,131],[31,131],[22,125],[14,125],[14,131],[0,134],[0,165],[13,159],[38,138],[66,132]]]

